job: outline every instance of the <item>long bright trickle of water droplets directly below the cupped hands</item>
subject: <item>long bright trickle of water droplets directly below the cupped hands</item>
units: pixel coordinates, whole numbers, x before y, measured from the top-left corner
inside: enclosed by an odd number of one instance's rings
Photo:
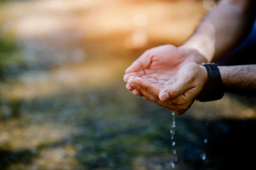
[[[178,158],[176,157],[177,155],[177,150],[175,148],[176,146],[176,142],[175,142],[175,127],[176,127],[176,123],[175,123],[175,113],[172,112],[172,124],[171,124],[171,130],[170,130],[170,135],[171,135],[171,147],[172,147],[172,154],[174,155],[174,157],[172,158],[171,162],[170,162],[170,168],[174,169],[177,162],[178,162]]]

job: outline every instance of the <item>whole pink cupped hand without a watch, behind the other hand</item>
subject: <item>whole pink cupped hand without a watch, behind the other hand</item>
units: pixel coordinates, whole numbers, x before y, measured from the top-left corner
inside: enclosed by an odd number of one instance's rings
[[[147,50],[140,58],[136,59],[125,70],[124,81],[128,82],[130,77],[142,77],[153,84],[157,83],[164,86],[164,82],[173,77],[182,65],[189,62],[204,63],[207,62],[207,59],[196,50],[173,45],[161,45]],[[134,89],[129,82],[126,88],[141,96],[141,93]]]

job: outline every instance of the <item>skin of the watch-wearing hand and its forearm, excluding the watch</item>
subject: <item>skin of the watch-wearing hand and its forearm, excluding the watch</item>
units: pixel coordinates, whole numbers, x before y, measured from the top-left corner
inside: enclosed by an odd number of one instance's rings
[[[256,65],[219,66],[221,81],[226,91],[256,95]],[[193,70],[193,72],[191,72]],[[207,70],[196,63],[187,63],[164,84],[150,82],[147,78],[131,77],[129,84],[141,96],[176,114],[183,114],[195,102],[208,81]]]

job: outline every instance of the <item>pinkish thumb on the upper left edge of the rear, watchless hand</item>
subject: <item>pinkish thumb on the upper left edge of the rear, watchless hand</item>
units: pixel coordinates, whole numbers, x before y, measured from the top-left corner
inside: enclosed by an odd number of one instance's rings
[[[131,66],[129,66],[125,73],[131,73],[131,72],[140,72],[141,70],[145,69],[150,65],[151,58],[148,55],[148,52],[144,52],[140,58],[136,59]]]

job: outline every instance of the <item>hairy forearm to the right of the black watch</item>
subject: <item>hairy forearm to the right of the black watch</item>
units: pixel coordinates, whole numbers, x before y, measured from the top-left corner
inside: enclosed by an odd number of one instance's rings
[[[224,90],[256,95],[256,65],[218,66]]]

